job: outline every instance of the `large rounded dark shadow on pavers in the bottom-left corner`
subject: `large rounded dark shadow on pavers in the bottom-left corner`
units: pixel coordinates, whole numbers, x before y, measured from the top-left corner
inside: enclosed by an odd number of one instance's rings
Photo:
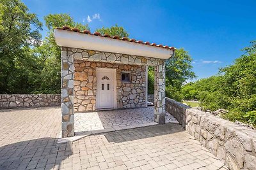
[[[72,155],[70,143],[57,145],[56,138],[20,141],[0,147],[0,169],[51,169]],[[58,169],[58,168],[57,168]]]

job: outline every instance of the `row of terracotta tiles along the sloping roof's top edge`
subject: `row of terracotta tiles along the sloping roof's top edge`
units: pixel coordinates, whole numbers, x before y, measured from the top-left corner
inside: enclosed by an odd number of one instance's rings
[[[170,50],[176,50],[175,47],[173,46],[167,46],[167,45],[156,45],[156,43],[149,43],[148,41],[147,42],[143,42],[141,40],[138,40],[136,41],[136,39],[129,39],[127,37],[124,37],[124,38],[119,38],[119,36],[110,36],[109,34],[100,34],[100,32],[94,32],[93,34],[89,31],[89,30],[84,30],[84,31],[80,31],[79,29],[77,28],[70,28],[68,26],[63,26],[63,27],[58,27],[57,29],[61,29],[61,30],[67,30],[67,31],[73,31],[73,32],[79,32],[79,33],[82,33],[82,34],[91,34],[91,35],[95,35],[95,36],[102,36],[102,37],[106,37],[106,38],[113,38],[113,39],[120,39],[120,40],[123,40],[123,41],[129,41],[129,42],[135,42],[135,43],[140,43],[140,44],[144,44],[144,45],[151,45],[151,46],[157,46],[159,48],[166,48],[166,49],[170,49]]]

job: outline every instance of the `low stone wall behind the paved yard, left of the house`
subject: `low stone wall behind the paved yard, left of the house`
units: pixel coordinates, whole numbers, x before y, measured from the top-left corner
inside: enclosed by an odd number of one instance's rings
[[[60,94],[0,94],[0,109],[60,105]]]

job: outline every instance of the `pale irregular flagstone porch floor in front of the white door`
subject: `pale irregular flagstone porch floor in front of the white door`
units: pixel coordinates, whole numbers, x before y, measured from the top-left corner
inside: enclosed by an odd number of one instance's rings
[[[170,113],[166,112],[165,117],[166,124],[179,123]],[[154,107],[152,106],[129,110],[93,111],[75,114],[76,135],[83,134],[84,132],[111,132],[148,125],[157,125],[154,122]]]

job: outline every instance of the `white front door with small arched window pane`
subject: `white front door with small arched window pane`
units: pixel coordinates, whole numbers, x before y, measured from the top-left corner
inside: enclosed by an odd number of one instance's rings
[[[115,69],[97,68],[97,109],[115,108]]]

